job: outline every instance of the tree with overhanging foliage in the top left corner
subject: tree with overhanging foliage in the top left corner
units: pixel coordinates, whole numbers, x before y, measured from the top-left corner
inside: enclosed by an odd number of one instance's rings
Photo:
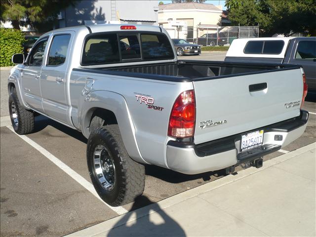
[[[76,0],[0,0],[0,19],[11,21],[14,29],[30,24],[51,23],[60,10],[75,5]],[[47,29],[47,28],[46,28]]]

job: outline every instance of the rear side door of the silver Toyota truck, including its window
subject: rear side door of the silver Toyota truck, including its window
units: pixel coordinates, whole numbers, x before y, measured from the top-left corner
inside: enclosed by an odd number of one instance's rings
[[[40,76],[42,105],[45,114],[67,124],[71,124],[68,119],[66,85],[72,38],[72,32],[52,36],[47,60]]]

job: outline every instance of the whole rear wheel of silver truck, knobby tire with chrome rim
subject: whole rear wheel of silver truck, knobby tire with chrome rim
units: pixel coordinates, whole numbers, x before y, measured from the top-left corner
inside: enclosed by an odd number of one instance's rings
[[[145,167],[128,156],[117,124],[91,132],[87,163],[95,190],[109,205],[124,205],[142,195]]]

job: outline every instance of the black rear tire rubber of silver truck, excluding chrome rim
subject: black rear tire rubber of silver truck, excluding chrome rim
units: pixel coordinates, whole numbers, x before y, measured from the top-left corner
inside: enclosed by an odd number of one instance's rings
[[[102,187],[94,168],[94,151],[98,145],[107,149],[115,165],[116,181],[110,191]],[[91,131],[87,143],[87,164],[95,190],[111,206],[130,203],[144,192],[145,167],[128,156],[117,124]]]

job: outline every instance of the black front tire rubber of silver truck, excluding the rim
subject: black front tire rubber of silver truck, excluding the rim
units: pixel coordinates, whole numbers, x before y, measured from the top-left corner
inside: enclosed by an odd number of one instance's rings
[[[18,124],[15,124],[12,114],[12,104],[15,105],[15,112],[18,118]],[[34,112],[26,110],[21,106],[15,88],[9,95],[9,114],[12,127],[17,134],[24,135],[34,131]]]

